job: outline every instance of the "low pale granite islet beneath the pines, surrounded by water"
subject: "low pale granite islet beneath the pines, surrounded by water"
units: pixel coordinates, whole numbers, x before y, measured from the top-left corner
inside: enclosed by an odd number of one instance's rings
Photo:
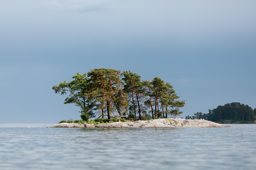
[[[147,121],[114,122],[105,124],[75,124],[60,123],[49,128],[178,128],[178,127],[200,127],[200,128],[224,128],[230,127],[206,120],[189,119],[154,119]]]

